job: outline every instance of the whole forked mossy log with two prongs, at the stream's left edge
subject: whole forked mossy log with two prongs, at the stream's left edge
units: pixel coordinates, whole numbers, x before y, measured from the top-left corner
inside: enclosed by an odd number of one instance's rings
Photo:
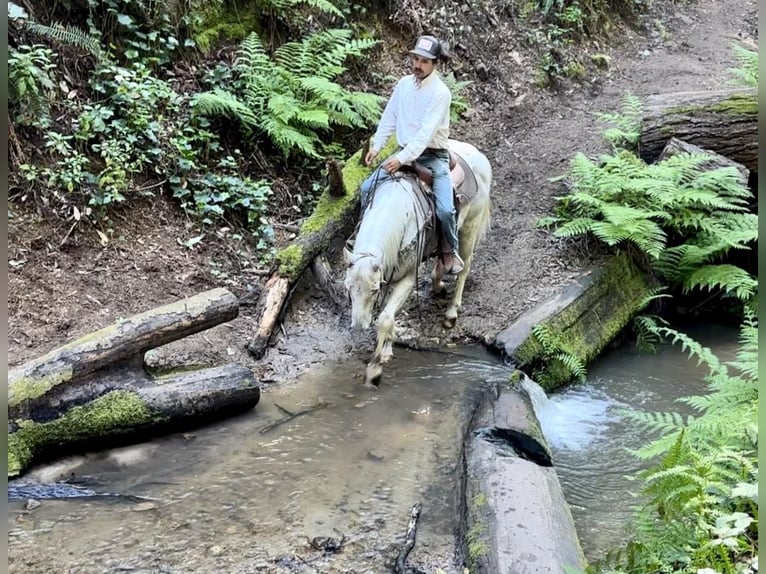
[[[199,424],[252,408],[252,372],[229,364],[154,378],[144,353],[236,317],[214,289],[120,320],[9,371],[8,476],[36,458]],[[123,439],[129,440],[129,439]]]

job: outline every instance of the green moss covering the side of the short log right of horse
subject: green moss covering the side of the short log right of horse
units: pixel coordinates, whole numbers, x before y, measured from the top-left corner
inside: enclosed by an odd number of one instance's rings
[[[544,348],[530,333],[514,359],[520,365],[534,366],[533,378],[547,391],[568,383],[572,373],[555,357],[557,351],[576,357],[583,365],[589,364],[628,325],[648,292],[646,276],[626,253],[617,255],[577,300],[541,323],[553,334],[555,348]],[[591,327],[587,333],[583,317]],[[594,324],[598,328],[593,328]]]

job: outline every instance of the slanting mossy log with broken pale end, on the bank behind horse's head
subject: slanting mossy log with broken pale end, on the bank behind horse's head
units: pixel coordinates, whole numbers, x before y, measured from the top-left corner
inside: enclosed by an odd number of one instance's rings
[[[379,157],[387,157],[395,145],[392,137]],[[364,165],[365,154],[366,149],[359,150],[341,170],[344,193],[338,190],[337,170],[331,172],[335,183],[327,186],[319,196],[313,213],[301,225],[295,241],[277,253],[277,269],[266,282],[265,294],[258,302],[258,327],[248,345],[250,354],[256,359],[266,353],[285,302],[303,272],[335,237],[347,235],[353,229],[359,217],[359,185],[372,172],[372,167]]]

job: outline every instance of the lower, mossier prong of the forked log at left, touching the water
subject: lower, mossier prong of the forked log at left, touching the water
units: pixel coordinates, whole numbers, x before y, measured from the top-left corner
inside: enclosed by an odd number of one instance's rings
[[[252,372],[236,364],[159,379],[124,367],[94,373],[66,396],[9,417],[8,476],[39,457],[199,424],[250,409],[259,399]]]

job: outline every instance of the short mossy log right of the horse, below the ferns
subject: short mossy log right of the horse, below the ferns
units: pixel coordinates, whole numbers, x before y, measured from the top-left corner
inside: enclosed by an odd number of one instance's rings
[[[627,253],[618,254],[522,314],[495,337],[494,346],[552,390],[574,378],[559,357],[589,364],[628,325],[650,290],[646,274]],[[551,340],[541,341],[536,330],[548,333]]]

